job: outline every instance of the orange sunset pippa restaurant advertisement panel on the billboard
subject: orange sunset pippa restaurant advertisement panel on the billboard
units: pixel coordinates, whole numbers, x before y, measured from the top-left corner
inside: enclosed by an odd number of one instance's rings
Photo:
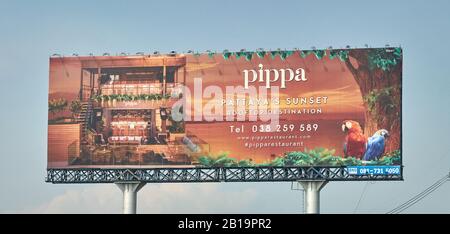
[[[401,48],[59,56],[49,79],[48,168],[401,171]]]

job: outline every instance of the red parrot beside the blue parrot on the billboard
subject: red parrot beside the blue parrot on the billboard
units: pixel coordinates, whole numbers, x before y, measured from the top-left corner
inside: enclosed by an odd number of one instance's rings
[[[367,137],[358,122],[345,120],[342,123],[342,131],[347,133],[344,141],[345,157],[361,159],[366,151]]]

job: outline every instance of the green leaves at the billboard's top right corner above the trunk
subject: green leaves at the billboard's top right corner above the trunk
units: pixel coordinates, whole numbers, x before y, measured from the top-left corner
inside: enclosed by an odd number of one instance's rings
[[[386,49],[379,48],[369,52],[369,68],[371,70],[380,68],[383,71],[388,71],[401,60],[402,49]]]

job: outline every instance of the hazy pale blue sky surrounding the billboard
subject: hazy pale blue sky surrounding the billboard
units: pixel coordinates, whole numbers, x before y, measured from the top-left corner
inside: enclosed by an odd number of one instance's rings
[[[44,183],[48,58],[109,52],[404,49],[405,181],[332,182],[324,213],[384,213],[450,169],[449,1],[0,1],[0,212],[118,213],[114,185]],[[413,206],[449,213],[450,183]],[[147,185],[141,213],[299,213],[290,183]]]

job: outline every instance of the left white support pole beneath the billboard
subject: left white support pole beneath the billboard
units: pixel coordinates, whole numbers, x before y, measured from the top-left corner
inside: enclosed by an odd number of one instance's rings
[[[123,193],[123,213],[136,214],[137,192],[144,187],[143,182],[123,182],[116,183]]]

